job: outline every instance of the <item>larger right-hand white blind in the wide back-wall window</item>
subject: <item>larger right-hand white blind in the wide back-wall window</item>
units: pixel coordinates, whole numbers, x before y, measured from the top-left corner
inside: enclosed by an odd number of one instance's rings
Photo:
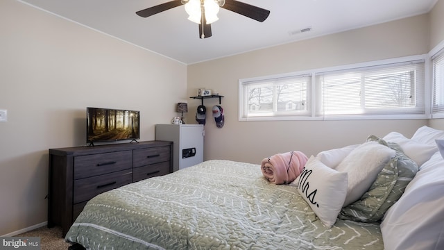
[[[425,61],[316,74],[316,115],[425,114]]]

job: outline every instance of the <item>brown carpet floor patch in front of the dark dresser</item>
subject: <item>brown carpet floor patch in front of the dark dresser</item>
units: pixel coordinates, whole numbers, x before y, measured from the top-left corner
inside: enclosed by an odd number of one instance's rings
[[[41,250],[67,250],[71,246],[71,244],[63,240],[62,228],[56,226],[53,228],[42,226],[33,231],[15,235],[15,237],[40,237]]]

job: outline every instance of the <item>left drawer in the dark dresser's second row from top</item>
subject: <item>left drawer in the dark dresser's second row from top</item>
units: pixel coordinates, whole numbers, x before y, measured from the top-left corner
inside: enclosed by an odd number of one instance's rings
[[[97,194],[131,183],[133,172],[123,170],[74,181],[74,203],[87,201]]]

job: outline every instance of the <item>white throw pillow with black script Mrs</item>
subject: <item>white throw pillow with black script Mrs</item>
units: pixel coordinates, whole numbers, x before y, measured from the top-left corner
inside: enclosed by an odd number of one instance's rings
[[[291,185],[298,187],[299,194],[316,216],[327,228],[331,228],[347,194],[347,173],[337,172],[311,156]]]

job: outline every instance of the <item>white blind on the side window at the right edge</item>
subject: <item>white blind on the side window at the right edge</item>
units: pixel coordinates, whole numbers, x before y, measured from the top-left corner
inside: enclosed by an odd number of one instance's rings
[[[444,49],[432,57],[432,114],[444,113]]]

